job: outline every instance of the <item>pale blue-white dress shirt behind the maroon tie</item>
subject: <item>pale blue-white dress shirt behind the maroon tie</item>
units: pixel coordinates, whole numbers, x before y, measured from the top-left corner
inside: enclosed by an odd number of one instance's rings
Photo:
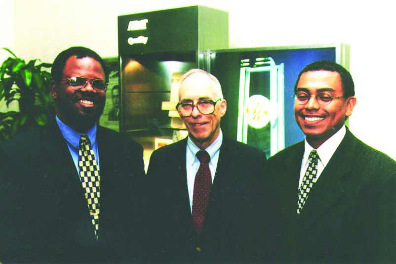
[[[219,136],[216,140],[208,146],[205,150],[210,156],[209,169],[212,175],[212,183],[214,180],[214,174],[216,173],[217,162],[219,160],[220,146],[223,142],[223,132],[220,130]],[[190,136],[187,139],[187,149],[186,149],[186,168],[187,168],[187,187],[189,191],[190,198],[190,209],[193,212],[193,195],[194,195],[194,182],[195,175],[197,174],[200,162],[196,156],[200,149],[194,144]]]

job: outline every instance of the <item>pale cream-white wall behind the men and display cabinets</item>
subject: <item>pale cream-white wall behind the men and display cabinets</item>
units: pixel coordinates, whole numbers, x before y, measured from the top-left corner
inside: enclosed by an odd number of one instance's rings
[[[391,1],[383,0],[370,4],[349,0],[327,3],[317,0],[2,0],[0,17],[6,14],[14,19],[15,39],[9,45],[14,46],[19,56],[41,58],[45,62],[52,62],[59,51],[73,45],[90,47],[103,57],[117,56],[118,15],[196,4],[229,11],[232,48],[348,43],[357,97],[350,128],[361,140],[396,159],[394,7]],[[4,6],[9,10],[4,10]],[[13,33],[5,35],[12,39]],[[3,40],[0,43],[7,44]]]

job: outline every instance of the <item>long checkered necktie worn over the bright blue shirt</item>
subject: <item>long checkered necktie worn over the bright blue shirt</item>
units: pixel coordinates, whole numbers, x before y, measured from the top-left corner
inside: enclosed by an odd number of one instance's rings
[[[79,175],[82,188],[85,190],[85,198],[88,201],[89,215],[95,227],[96,239],[98,239],[100,176],[95,154],[86,134],[81,134],[79,141]]]

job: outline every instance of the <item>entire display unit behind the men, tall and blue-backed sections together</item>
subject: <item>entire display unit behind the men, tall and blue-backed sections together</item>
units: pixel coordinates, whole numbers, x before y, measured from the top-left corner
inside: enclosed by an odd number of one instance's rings
[[[228,13],[205,6],[119,16],[120,131],[143,145],[145,162],[185,137],[175,111],[178,80],[202,68],[227,100],[223,133],[270,157],[304,137],[294,121],[294,83],[304,66],[324,59],[349,68],[349,46],[229,49]]]

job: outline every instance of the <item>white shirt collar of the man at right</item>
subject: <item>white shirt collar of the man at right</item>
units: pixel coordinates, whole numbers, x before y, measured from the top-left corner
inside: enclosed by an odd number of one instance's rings
[[[342,126],[342,128],[339,131],[337,131],[334,135],[332,135],[330,138],[324,141],[317,148],[317,155],[319,155],[319,160],[321,161],[323,166],[326,166],[327,163],[330,161],[334,152],[336,151],[342,139],[344,138],[346,131],[347,130],[345,128],[345,125]],[[307,137],[304,138],[304,145],[305,145],[305,151],[303,157],[303,164],[306,164],[308,162],[310,153],[314,148],[307,142]]]

